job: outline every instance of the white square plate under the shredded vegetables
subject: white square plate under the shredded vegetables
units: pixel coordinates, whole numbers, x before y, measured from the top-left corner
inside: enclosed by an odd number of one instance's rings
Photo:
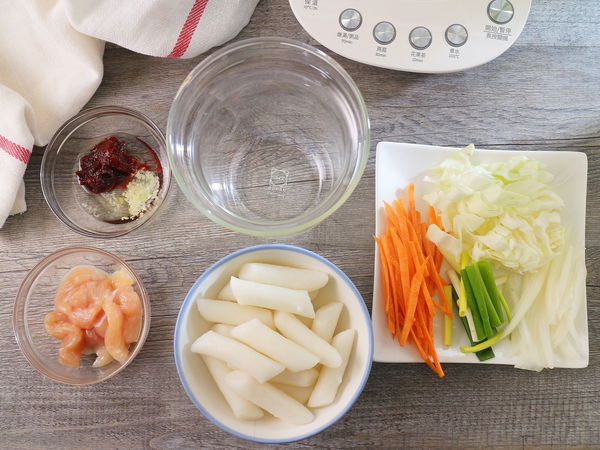
[[[415,202],[417,208],[425,213],[426,204],[422,200],[428,183],[423,182],[427,170],[447,158],[456,148],[435,147],[416,144],[398,144],[380,142],[377,145],[376,167],[376,225],[377,235],[384,231],[383,202],[391,203],[398,197],[405,197],[404,190],[409,183],[415,184]],[[571,239],[575,247],[585,246],[585,202],[587,192],[587,157],[578,152],[519,152],[508,150],[476,150],[474,162],[491,162],[507,160],[513,156],[526,155],[543,163],[555,176],[553,188],[565,201],[562,219],[571,231]],[[585,284],[585,281],[584,281]],[[587,303],[585,286],[583,296],[578,301],[583,302],[582,322],[579,329],[585,327],[587,335]],[[375,353],[373,359],[378,362],[423,362],[419,353],[412,345],[400,347],[393,339],[386,326],[385,301],[380,284],[379,255],[375,253],[375,282],[373,286],[373,333],[375,337]],[[481,363],[475,354],[462,353],[459,347],[469,345],[462,325],[455,319],[453,345],[444,347],[441,342],[441,314],[436,316],[435,346],[441,362]],[[495,358],[485,361],[485,364],[514,364],[515,361],[503,351],[505,342],[494,346]],[[585,358],[568,361],[557,360],[555,367],[579,368],[588,365],[589,352]]]

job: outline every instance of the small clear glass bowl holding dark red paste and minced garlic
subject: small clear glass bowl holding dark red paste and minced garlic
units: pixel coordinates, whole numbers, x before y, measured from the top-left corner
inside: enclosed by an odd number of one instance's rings
[[[150,147],[162,166],[157,198],[146,213],[131,221],[103,220],[99,194],[88,192],[75,175],[81,156],[111,136],[125,140],[127,151],[138,159],[152,158]],[[119,106],[87,109],[66,122],[46,147],[40,181],[48,206],[69,228],[90,237],[122,236],[154,217],[169,192],[171,169],[164,135],[152,120],[132,109]]]

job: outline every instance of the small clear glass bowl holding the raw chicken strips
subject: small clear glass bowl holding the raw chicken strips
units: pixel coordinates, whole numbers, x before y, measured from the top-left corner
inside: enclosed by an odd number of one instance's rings
[[[133,279],[133,288],[142,301],[142,326],[140,337],[132,344],[124,364],[113,361],[104,367],[93,368],[93,355],[82,356],[77,369],[58,361],[60,341],[46,332],[44,317],[54,310],[54,297],[65,275],[79,265],[90,265],[107,273],[125,269]],[[65,384],[96,384],[127,367],[142,349],[150,329],[150,300],[140,278],[122,259],[93,247],[68,247],[48,255],[29,271],[15,300],[13,329],[21,351],[41,374]]]

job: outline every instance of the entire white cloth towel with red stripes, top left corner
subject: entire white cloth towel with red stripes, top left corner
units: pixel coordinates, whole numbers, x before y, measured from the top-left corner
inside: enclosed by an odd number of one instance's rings
[[[235,37],[259,0],[0,0],[0,228],[23,174],[102,80],[104,41],[188,58]]]

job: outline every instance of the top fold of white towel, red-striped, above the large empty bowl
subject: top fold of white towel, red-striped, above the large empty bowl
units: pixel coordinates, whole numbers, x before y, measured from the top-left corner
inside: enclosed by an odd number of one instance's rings
[[[233,39],[258,0],[65,0],[73,27],[152,56],[190,58]]]

